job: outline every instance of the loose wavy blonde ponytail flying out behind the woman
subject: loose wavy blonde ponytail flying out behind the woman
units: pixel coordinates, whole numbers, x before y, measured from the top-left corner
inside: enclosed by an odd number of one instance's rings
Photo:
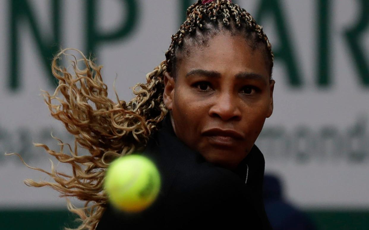
[[[82,59],[77,60],[74,55],[66,51],[75,50]],[[74,74],[70,74],[64,67],[57,65],[61,56],[72,56],[71,67]],[[86,68],[79,69],[78,63],[84,63]],[[74,148],[59,141],[60,150],[49,149],[45,144],[35,143],[59,162],[72,166],[72,176],[56,171],[51,162],[51,172],[42,171],[54,179],[48,181],[25,180],[25,184],[32,187],[48,186],[61,193],[61,197],[75,197],[86,201],[84,208],[76,208],[68,201],[68,209],[76,213],[81,220],[77,230],[95,229],[104,213],[108,202],[103,191],[105,169],[115,158],[135,151],[142,151],[151,133],[157,130],[157,124],[163,120],[168,110],[163,103],[162,76],[166,71],[166,61],[146,74],[146,84],[137,84],[133,92],[134,99],[126,103],[118,98],[117,103],[107,98],[107,86],[103,83],[100,71],[102,66],[96,66],[79,50],[64,49],[52,61],[52,73],[59,79],[59,85],[53,95],[44,92],[45,103],[51,115],[64,123],[66,129],[74,135]],[[61,94],[63,98],[60,98]],[[59,104],[54,104],[56,100]],[[89,104],[92,102],[94,107]],[[90,155],[80,155],[77,146],[87,149]],[[64,153],[67,146],[70,154]],[[68,229],[68,228],[66,228]]]

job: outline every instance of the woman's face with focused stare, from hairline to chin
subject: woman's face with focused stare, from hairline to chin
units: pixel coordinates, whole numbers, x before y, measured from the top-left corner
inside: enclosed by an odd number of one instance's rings
[[[262,48],[244,38],[214,36],[165,74],[164,103],[179,139],[208,162],[235,168],[273,112],[274,81]]]

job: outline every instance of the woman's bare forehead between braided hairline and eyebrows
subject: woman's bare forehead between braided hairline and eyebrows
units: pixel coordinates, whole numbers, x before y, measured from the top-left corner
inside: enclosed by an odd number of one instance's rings
[[[239,35],[220,33],[206,45],[189,44],[180,55],[176,69],[179,76],[194,69],[220,72],[222,75],[252,72],[269,79],[269,70],[262,47],[251,47]]]

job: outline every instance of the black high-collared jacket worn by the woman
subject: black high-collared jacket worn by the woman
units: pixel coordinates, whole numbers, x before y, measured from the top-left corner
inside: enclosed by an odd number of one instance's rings
[[[139,214],[122,213],[108,206],[97,230],[222,226],[271,229],[262,198],[265,161],[255,145],[237,170],[217,167],[176,137],[167,116],[142,155],[150,158],[161,174],[158,198]]]

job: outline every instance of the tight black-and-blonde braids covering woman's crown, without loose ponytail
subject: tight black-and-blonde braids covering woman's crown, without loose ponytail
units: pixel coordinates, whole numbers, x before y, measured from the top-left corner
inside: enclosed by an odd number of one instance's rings
[[[203,4],[204,3],[204,4]],[[176,54],[182,49],[186,43],[186,38],[193,36],[194,33],[204,33],[206,30],[213,30],[214,35],[217,29],[212,26],[217,26],[221,23],[224,28],[233,29],[244,28],[248,33],[256,33],[257,40],[255,42],[262,42],[266,46],[268,61],[270,66],[270,76],[272,74],[274,55],[272,52],[272,45],[268,37],[263,32],[261,25],[258,25],[254,18],[245,9],[237,4],[231,3],[230,0],[213,0],[213,1],[197,1],[187,9],[186,21],[180,26],[177,33],[172,35],[172,42],[168,51],[165,53],[167,71],[175,73]],[[196,35],[195,35],[196,36]],[[172,74],[175,75],[175,74]]]

